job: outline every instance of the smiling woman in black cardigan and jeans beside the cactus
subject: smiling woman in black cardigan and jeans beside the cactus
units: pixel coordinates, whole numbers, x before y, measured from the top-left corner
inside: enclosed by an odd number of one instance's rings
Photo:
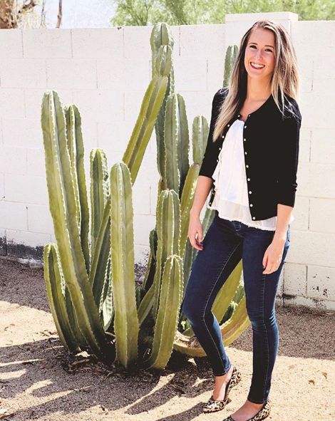
[[[244,405],[224,421],[258,421],[269,415],[279,344],[274,304],[297,189],[298,84],[297,59],[287,31],[272,21],[257,21],[242,38],[229,87],[218,90],[212,102],[188,229],[198,253],[182,311],[215,375],[214,391],[203,410],[222,410],[241,373],[225,352],[211,308],[242,259],[253,373]],[[215,209],[215,218],[202,241],[200,212],[211,188],[208,207]]]

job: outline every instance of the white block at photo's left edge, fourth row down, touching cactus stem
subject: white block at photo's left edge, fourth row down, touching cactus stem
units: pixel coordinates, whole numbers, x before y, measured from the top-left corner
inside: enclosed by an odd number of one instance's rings
[[[3,118],[2,132],[5,146],[43,148],[39,118]]]

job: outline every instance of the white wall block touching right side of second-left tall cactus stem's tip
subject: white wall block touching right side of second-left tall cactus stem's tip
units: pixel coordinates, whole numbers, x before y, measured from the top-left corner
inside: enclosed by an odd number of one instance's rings
[[[113,90],[75,90],[73,102],[83,120],[123,121],[123,93]]]

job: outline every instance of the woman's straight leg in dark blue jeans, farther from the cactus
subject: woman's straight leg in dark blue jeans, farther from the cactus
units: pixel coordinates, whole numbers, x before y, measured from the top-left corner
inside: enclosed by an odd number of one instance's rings
[[[247,399],[254,403],[267,402],[272,370],[277,357],[279,331],[275,316],[275,300],[279,276],[290,244],[290,227],[284,244],[282,262],[277,271],[262,274],[264,253],[274,237],[273,231],[249,227],[245,231],[242,265],[244,290],[249,320],[252,324],[253,372]]]

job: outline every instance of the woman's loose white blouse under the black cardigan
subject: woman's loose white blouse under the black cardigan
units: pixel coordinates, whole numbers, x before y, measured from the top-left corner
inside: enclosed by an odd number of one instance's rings
[[[253,221],[249,211],[247,180],[244,168],[243,120],[235,120],[227,131],[212,175],[215,197],[208,209],[217,209],[219,217],[239,221],[249,227],[275,230],[277,216]],[[252,193],[251,193],[252,194]],[[289,223],[294,220],[292,214]]]

